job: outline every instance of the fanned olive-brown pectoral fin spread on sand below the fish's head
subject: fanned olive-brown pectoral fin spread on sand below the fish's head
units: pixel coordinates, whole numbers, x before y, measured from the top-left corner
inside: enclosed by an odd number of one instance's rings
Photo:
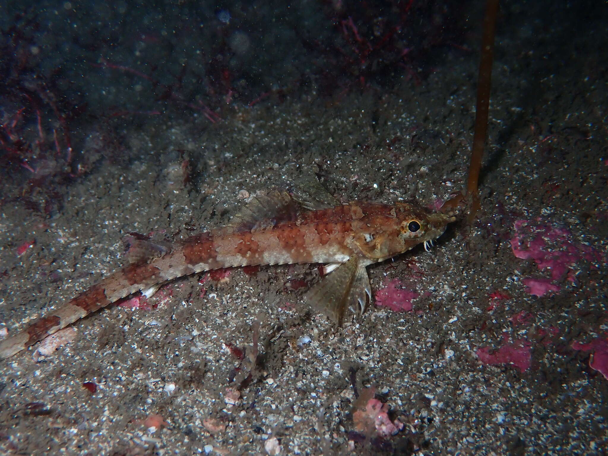
[[[305,295],[306,301],[337,325],[342,323],[347,307],[358,314],[363,313],[371,299],[367,264],[365,258],[351,257],[313,286]]]

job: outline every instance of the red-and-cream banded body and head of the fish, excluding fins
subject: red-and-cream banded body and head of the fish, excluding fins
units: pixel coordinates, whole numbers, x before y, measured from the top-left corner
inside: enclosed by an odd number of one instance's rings
[[[405,203],[355,201],[288,213],[252,229],[237,226],[200,233],[177,241],[161,257],[120,269],[26,330],[3,340],[0,358],[12,356],[134,292],[151,295],[159,284],[196,272],[260,264],[345,263],[353,257],[361,258],[359,269],[364,268],[426,241],[416,233],[407,234],[404,224],[414,220],[418,226],[426,224],[428,230],[435,229],[428,215],[418,206]],[[430,240],[443,232],[447,223],[437,220],[437,232],[427,235]]]

